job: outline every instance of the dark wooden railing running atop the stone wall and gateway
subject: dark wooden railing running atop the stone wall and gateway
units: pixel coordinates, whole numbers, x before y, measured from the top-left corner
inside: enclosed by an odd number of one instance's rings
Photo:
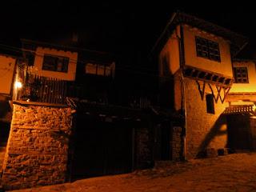
[[[17,94],[17,100],[30,102],[48,102],[65,104],[66,97],[86,99],[88,102],[98,102],[103,104],[129,106],[136,109],[146,109],[151,103],[145,96],[128,96],[122,98],[119,95],[118,101],[110,99],[115,90],[98,90],[90,89],[90,87],[76,82],[60,80],[57,78],[46,78],[38,75],[28,75],[23,81],[22,89]],[[127,95],[126,95],[127,96]],[[120,98],[121,97],[121,98]],[[110,102],[111,101],[111,102]]]

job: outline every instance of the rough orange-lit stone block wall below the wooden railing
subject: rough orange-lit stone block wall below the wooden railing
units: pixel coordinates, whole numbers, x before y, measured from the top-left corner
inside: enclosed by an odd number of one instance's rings
[[[5,190],[66,181],[71,109],[14,104],[3,165]]]

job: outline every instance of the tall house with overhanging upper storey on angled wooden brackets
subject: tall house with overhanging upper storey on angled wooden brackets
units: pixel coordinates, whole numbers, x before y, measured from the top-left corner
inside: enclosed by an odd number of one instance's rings
[[[184,119],[184,158],[218,155],[228,148],[223,112],[234,82],[232,58],[244,46],[242,35],[180,12],[158,38],[153,55],[159,66],[160,105]]]

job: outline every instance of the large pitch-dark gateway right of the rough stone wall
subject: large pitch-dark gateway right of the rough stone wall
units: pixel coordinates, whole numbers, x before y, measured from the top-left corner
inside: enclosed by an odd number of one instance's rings
[[[78,115],[72,178],[123,174],[132,170],[132,127]]]

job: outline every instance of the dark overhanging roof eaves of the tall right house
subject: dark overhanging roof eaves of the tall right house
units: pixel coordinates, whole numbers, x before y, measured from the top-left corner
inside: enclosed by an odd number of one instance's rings
[[[233,42],[234,48],[237,49],[233,54],[234,56],[238,54],[238,52],[241,51],[248,43],[248,38],[246,38],[242,34],[235,33],[222,26],[218,26],[212,22],[206,22],[206,20],[203,20],[202,18],[197,18],[193,15],[176,11],[174,12],[174,14],[172,14],[165,29],[163,30],[162,34],[158,38],[157,42],[154,44],[152,50],[150,51],[150,55],[152,55],[154,51],[157,50],[158,46],[162,47],[162,45],[159,45],[161,41],[164,41],[164,42],[167,41],[166,39],[163,40],[163,37],[166,35],[166,31],[174,30],[172,28],[180,24],[188,24],[190,26],[197,27],[198,29],[205,30],[206,32],[209,32],[211,34],[215,34],[217,36],[230,40],[230,42]]]

